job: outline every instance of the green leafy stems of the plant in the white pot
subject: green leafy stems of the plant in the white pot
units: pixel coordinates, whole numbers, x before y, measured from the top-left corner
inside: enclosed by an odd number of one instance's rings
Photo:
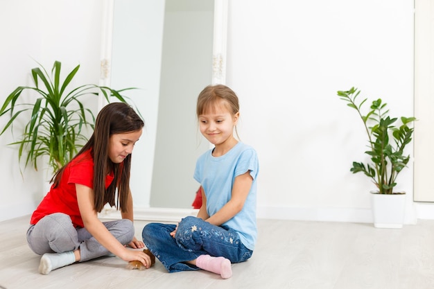
[[[399,173],[410,160],[410,155],[404,154],[404,149],[412,140],[414,128],[409,125],[416,119],[401,116],[398,121],[398,118],[390,117],[387,103],[383,103],[381,98],[373,100],[370,110],[364,115],[361,110],[367,98],[357,101],[360,92],[354,87],[348,91],[338,91],[338,96],[360,116],[368,139],[369,149],[365,153],[370,156],[370,161],[354,161],[350,170],[370,177],[378,193],[392,194]]]

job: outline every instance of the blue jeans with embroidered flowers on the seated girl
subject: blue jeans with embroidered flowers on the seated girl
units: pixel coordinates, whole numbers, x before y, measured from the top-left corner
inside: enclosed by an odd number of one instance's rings
[[[200,255],[223,256],[231,263],[247,261],[253,251],[241,243],[236,231],[211,225],[200,218],[186,217],[176,225],[150,223],[142,231],[146,247],[162,262],[168,272],[199,270],[185,263]]]

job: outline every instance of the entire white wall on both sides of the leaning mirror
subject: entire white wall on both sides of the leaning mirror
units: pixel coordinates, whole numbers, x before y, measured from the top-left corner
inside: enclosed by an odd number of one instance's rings
[[[45,15],[47,7],[57,14]],[[0,100],[28,80],[29,55],[47,65],[80,62],[86,82],[97,81],[101,10],[101,1],[2,1]],[[336,91],[356,86],[392,114],[413,114],[413,1],[229,1],[228,30],[227,85],[241,99],[241,139],[260,158],[259,217],[370,222],[374,188],[349,172],[365,159],[366,137]],[[0,138],[9,164],[0,168],[0,220],[31,213],[40,182],[31,170],[21,180],[6,143]],[[399,178],[407,222],[412,175],[410,165]]]

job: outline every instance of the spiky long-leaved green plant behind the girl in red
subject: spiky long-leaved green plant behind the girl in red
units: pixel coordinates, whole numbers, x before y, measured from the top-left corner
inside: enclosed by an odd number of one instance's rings
[[[14,130],[15,121],[28,121],[24,130],[19,132],[19,140],[10,143],[18,146],[18,157],[25,157],[25,166],[31,165],[37,170],[37,160],[49,157],[49,166],[53,171],[67,164],[87,141],[86,128],[94,128],[94,112],[80,101],[82,98],[103,95],[107,102],[114,97],[126,103],[121,90],[98,85],[80,85],[71,87],[71,80],[80,65],[75,67],[61,80],[62,64],[55,61],[51,77],[39,64],[31,70],[34,86],[17,87],[1,105],[0,116],[8,115],[10,120],[4,125],[0,135],[8,129]],[[30,93],[23,99],[23,92]],[[26,113],[25,113],[26,112]],[[29,113],[30,116],[29,116]]]

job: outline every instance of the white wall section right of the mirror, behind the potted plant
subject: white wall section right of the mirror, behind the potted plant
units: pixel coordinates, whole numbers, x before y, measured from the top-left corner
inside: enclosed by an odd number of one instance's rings
[[[227,43],[241,139],[259,153],[259,216],[371,222],[375,188],[349,172],[366,159],[363,123],[336,91],[413,115],[413,1],[229,1]],[[398,188],[409,213],[411,176]]]

